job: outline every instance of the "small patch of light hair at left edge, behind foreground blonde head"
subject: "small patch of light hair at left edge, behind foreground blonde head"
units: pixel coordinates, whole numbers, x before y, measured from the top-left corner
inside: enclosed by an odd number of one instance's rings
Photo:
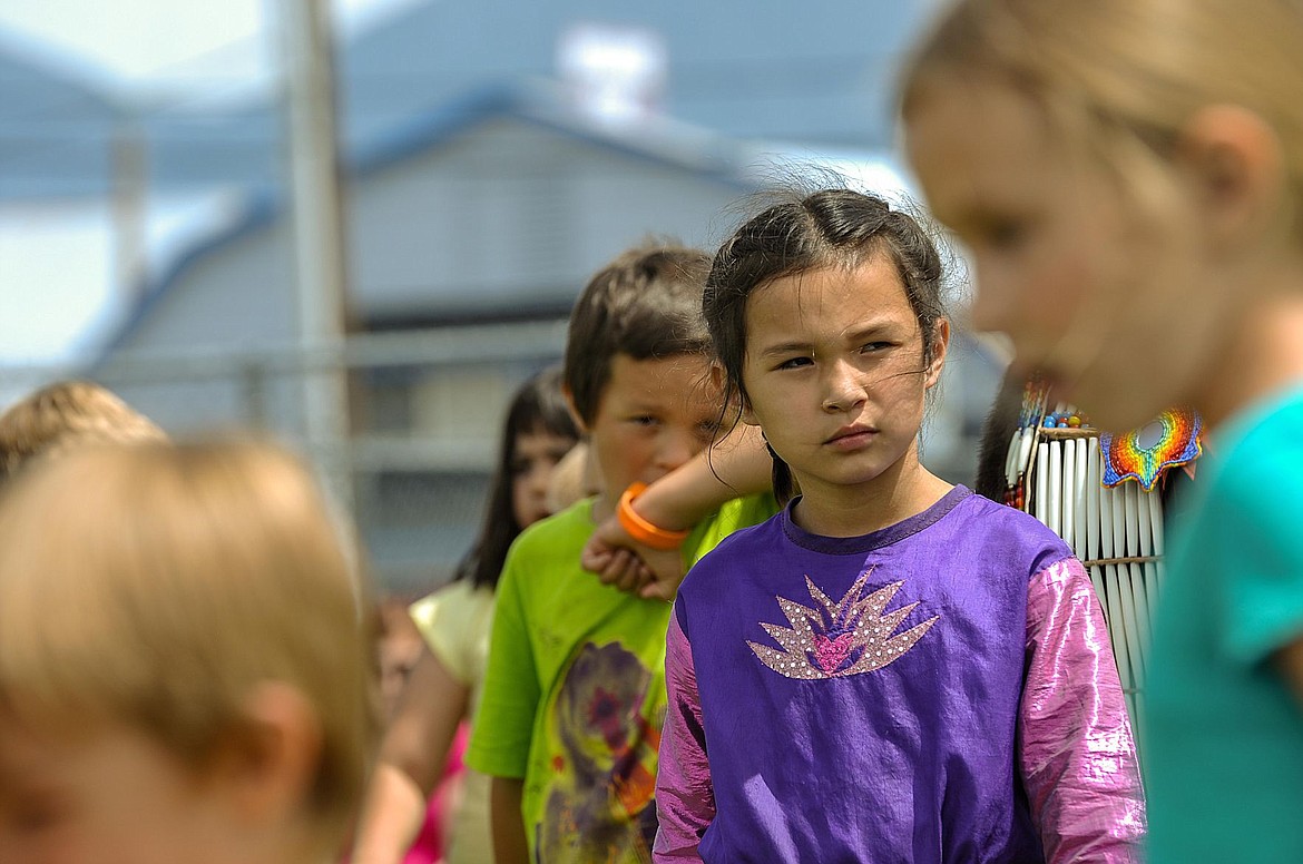
[[[0,414],[0,481],[35,456],[76,444],[165,440],[147,417],[89,381],[63,381]]]

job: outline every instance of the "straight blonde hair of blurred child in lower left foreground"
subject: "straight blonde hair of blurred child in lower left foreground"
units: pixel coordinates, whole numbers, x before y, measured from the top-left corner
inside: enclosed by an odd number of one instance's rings
[[[258,443],[79,447],[0,498],[0,708],[125,722],[202,770],[254,687],[321,725],[308,803],[341,839],[377,734],[373,616],[308,470]]]

